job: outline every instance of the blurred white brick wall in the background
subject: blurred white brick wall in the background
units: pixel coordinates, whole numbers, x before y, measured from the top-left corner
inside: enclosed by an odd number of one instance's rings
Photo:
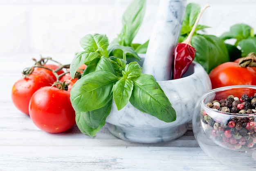
[[[121,17],[131,0],[0,0],[0,54],[75,53],[87,33],[105,33],[112,40],[121,30]],[[136,42],[150,37],[158,0],[147,1],[144,23]],[[237,23],[256,29],[256,0],[187,0],[203,7],[200,24],[219,36]],[[2,56],[2,55],[1,55]],[[1,57],[2,58],[2,57]]]

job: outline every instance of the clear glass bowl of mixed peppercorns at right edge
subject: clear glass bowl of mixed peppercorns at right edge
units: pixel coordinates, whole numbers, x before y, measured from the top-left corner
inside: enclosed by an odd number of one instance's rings
[[[221,87],[200,97],[193,133],[207,155],[229,166],[256,167],[254,98],[256,86],[251,85]]]

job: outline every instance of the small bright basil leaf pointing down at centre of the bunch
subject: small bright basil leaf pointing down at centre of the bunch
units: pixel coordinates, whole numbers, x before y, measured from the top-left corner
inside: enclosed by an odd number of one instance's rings
[[[129,102],[132,94],[133,83],[131,80],[122,77],[113,86],[113,98],[118,110],[123,109]]]

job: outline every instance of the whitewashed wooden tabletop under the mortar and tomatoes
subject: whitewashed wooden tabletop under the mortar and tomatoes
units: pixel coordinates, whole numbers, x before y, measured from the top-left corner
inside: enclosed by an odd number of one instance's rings
[[[39,55],[0,56],[0,171],[235,170],[211,159],[200,149],[191,124],[181,138],[158,144],[120,140],[109,133],[107,125],[95,138],[83,135],[76,126],[59,134],[40,131],[11,101],[12,85],[21,77],[22,69],[33,64],[32,57],[39,58]],[[64,64],[72,58],[72,54],[54,56]]]

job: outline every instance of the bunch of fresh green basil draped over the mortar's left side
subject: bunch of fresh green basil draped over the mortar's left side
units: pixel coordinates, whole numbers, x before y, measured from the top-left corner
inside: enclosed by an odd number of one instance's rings
[[[81,41],[84,51],[70,64],[74,77],[77,69],[88,65],[70,92],[80,131],[93,137],[106,123],[112,100],[121,110],[128,102],[142,112],[164,122],[176,120],[176,113],[153,76],[142,74],[137,53],[146,52],[145,44],[132,44],[144,17],[146,0],[133,0],[123,16],[123,29],[109,44],[106,35],[88,34]]]

